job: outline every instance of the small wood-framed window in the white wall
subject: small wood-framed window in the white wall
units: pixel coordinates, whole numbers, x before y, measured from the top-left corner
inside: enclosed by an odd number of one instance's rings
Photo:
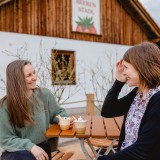
[[[52,84],[76,84],[74,51],[52,50]]]

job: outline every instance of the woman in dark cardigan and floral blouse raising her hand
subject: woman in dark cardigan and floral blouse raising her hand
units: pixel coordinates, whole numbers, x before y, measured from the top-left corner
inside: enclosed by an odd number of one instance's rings
[[[124,86],[135,87],[119,98]],[[153,43],[136,45],[116,66],[116,81],[101,111],[103,117],[124,115],[118,152],[98,160],[160,159],[160,49]]]

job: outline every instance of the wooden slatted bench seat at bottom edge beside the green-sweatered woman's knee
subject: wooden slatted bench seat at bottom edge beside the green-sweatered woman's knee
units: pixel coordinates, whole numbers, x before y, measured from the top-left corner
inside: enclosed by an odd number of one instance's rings
[[[52,160],[68,160],[72,157],[73,152],[52,152]]]

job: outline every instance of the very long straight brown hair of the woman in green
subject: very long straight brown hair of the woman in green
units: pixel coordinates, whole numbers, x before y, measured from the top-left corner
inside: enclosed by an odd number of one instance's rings
[[[7,66],[7,107],[9,112],[9,121],[19,128],[23,128],[26,122],[34,124],[30,111],[30,100],[27,97],[27,86],[23,68],[31,64],[27,60],[15,60]]]

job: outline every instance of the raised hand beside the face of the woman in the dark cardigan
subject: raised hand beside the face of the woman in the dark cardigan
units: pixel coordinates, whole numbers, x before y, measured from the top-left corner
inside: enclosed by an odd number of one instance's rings
[[[126,76],[124,75],[124,65],[122,64],[123,59],[117,62],[116,64],[116,79],[120,82],[126,82]]]

